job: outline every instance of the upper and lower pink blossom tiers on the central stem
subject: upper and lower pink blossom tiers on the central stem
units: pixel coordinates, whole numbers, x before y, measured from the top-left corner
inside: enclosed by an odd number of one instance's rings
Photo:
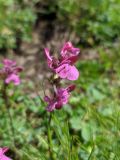
[[[48,48],[45,48],[45,56],[47,64],[52,71],[59,76],[60,79],[77,80],[79,71],[75,67],[75,62],[78,60],[79,48],[73,47],[71,42],[64,44],[60,57],[57,59],[50,55]],[[54,84],[56,85],[56,84]],[[48,103],[47,111],[52,112],[55,109],[60,109],[64,104],[67,104],[70,92],[74,90],[75,85],[70,85],[67,88],[54,89],[53,97],[45,96],[44,100]]]

